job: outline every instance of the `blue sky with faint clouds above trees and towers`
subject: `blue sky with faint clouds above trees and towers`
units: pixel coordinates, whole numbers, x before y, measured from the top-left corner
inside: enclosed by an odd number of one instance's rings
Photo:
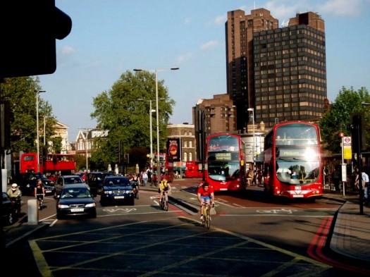
[[[92,99],[133,68],[158,73],[175,100],[171,123],[192,123],[198,99],[226,93],[225,23],[228,11],[266,8],[279,25],[313,11],[325,20],[328,99],[344,86],[370,90],[370,0],[56,0],[73,21],[56,41],[55,73],[39,75],[54,116],[69,126],[94,128]]]

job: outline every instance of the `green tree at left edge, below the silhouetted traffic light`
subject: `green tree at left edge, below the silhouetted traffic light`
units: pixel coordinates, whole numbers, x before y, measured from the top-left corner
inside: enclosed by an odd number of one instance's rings
[[[1,100],[10,102],[11,152],[37,152],[36,93],[42,90],[37,77],[4,78],[0,83]],[[39,146],[43,145],[44,118],[46,139],[55,135],[56,119],[51,106],[39,97]],[[56,142],[57,139],[54,139]]]

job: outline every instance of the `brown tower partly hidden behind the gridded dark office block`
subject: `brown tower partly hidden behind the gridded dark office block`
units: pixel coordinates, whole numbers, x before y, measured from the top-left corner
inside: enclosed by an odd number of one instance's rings
[[[278,20],[270,11],[258,8],[245,15],[245,11],[229,11],[226,30],[227,93],[237,110],[237,130],[247,128],[248,108],[254,108],[254,32],[273,30]]]

